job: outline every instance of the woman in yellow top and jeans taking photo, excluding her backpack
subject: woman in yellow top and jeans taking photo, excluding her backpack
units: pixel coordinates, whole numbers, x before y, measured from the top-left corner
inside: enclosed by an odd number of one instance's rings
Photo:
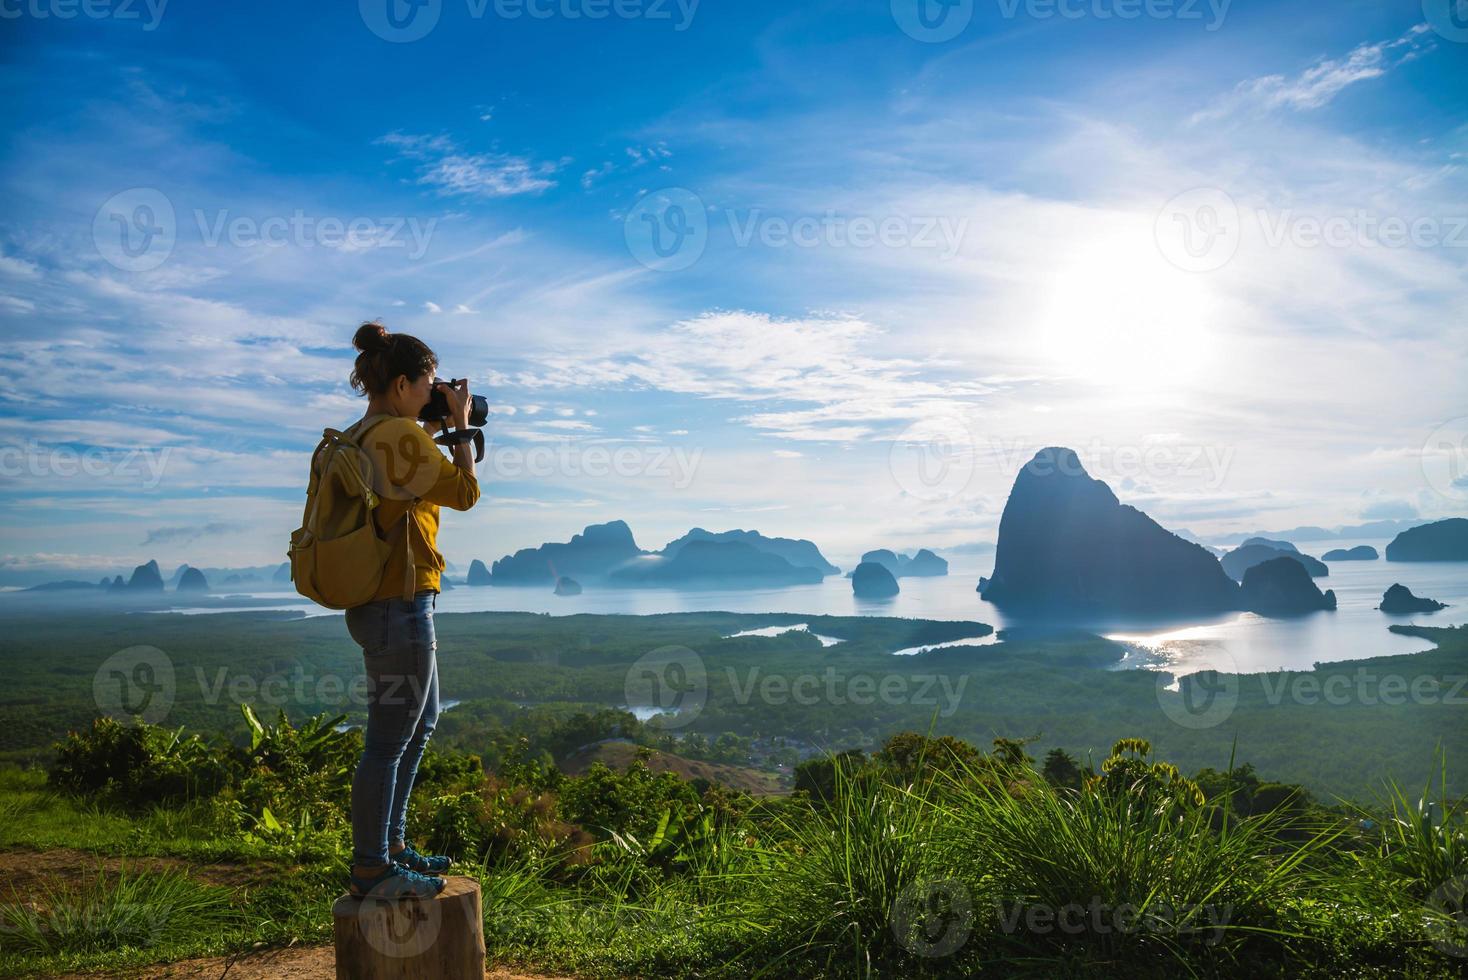
[[[368,396],[352,427],[373,461],[373,511],[379,535],[392,541],[382,588],[373,601],[346,610],[346,629],[363,648],[367,670],[367,731],[352,778],[351,893],[430,898],[451,860],[418,854],[405,836],[408,797],[423,750],[439,716],[437,604],[443,556],[436,547],[439,508],[468,511],[479,500],[473,447],[454,445],[445,459],[433,433],[418,423],[435,387],[448,401],[448,423],[468,428],[468,381],[435,381],[437,356],[417,337],[366,323],[352,337],[360,351],[351,384]],[[377,418],[386,417],[386,418]],[[408,582],[411,579],[411,596]]]

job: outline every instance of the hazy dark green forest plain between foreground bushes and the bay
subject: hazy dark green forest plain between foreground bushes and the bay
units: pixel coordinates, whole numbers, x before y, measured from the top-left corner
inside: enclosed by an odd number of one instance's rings
[[[797,622],[843,643],[822,647],[804,631],[722,638]],[[1422,653],[1242,675],[1233,710],[1199,728],[1169,716],[1164,709],[1180,695],[1160,691],[1158,675],[1113,669],[1120,647],[1083,632],[1006,634],[992,646],[893,657],[893,650],[982,635],[988,626],[777,613],[457,613],[437,616],[436,626],[440,688],[458,704],[440,717],[435,742],[477,754],[492,770],[515,758],[550,764],[617,736],[788,779],[810,756],[873,751],[897,732],[929,726],[978,745],[1035,739],[1041,756],[1063,748],[1095,763],[1120,731],[1147,738],[1189,772],[1220,766],[1236,739],[1239,757],[1279,782],[1324,798],[1370,798],[1386,778],[1420,785],[1439,745],[1449,758],[1468,757],[1462,626],[1395,628],[1422,637]],[[98,613],[73,622],[18,615],[6,629],[0,760],[46,763],[56,741],[97,713],[98,668],[135,646],[156,647],[172,666],[163,719],[170,726],[235,731],[241,701],[261,716],[282,707],[294,722],[323,712],[364,720],[352,687],[361,653],[335,616]],[[699,657],[702,710],[675,725],[615,710],[627,703],[639,659],[668,647]],[[1456,782],[1461,772],[1449,778],[1452,792],[1468,791]]]

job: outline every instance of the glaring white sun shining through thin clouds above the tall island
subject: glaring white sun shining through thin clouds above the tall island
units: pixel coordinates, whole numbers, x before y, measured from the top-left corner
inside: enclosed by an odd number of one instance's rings
[[[1163,390],[1207,368],[1216,311],[1205,274],[1170,266],[1151,238],[1119,235],[1057,263],[1033,339],[1041,361],[1066,377]]]

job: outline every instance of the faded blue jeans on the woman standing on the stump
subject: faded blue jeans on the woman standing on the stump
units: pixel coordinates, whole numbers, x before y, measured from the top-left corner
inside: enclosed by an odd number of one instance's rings
[[[346,631],[367,669],[367,732],[352,776],[352,857],[388,863],[388,842],[404,841],[408,795],[439,720],[437,593],[382,599],[346,610]]]

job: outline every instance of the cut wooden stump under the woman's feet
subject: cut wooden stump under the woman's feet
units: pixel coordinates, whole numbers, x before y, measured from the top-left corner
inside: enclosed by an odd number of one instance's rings
[[[332,907],[336,980],[483,980],[479,882],[449,877],[429,899],[342,895]]]

